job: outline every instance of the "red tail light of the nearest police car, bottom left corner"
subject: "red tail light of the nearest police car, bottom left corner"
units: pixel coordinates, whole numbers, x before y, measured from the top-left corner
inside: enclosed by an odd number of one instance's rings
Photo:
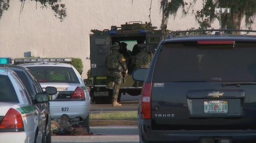
[[[4,119],[2,119],[0,129],[24,129],[20,112],[10,108],[4,116]]]

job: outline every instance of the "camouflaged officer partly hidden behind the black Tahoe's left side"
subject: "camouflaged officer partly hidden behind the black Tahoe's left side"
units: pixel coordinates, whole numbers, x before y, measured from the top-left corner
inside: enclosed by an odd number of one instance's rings
[[[147,53],[147,45],[142,43],[138,45],[139,53],[135,56],[134,69],[149,68],[152,60],[152,55]],[[133,87],[138,87],[138,82],[135,81]]]

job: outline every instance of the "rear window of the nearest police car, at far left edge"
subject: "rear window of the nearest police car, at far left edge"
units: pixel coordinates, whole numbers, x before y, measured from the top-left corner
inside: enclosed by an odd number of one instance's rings
[[[8,76],[0,75],[0,102],[19,102]]]

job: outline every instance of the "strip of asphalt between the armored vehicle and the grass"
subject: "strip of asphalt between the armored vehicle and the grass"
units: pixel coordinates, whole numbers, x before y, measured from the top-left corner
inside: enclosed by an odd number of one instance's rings
[[[122,103],[121,107],[111,104],[90,104],[90,112],[138,111],[139,102]]]

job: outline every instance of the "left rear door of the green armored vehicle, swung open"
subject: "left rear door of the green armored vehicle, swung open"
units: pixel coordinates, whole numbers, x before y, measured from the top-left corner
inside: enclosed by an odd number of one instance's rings
[[[110,54],[109,35],[90,35],[90,62],[92,76],[106,76],[106,56]]]

